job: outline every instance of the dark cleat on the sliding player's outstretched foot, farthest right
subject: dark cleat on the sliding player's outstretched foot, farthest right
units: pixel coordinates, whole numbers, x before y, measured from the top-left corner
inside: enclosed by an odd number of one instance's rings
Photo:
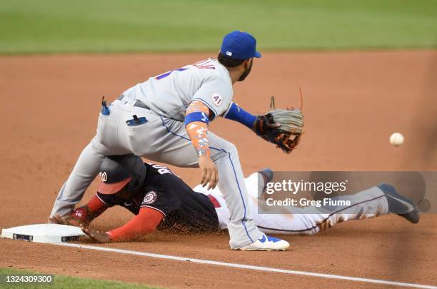
[[[399,195],[396,188],[387,183],[381,183],[378,188],[386,195],[390,213],[406,218],[413,224],[418,223],[419,211],[411,199]]]

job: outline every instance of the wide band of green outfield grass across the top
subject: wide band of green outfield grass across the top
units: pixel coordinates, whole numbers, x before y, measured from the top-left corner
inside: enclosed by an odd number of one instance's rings
[[[0,54],[437,47],[435,0],[0,0]]]

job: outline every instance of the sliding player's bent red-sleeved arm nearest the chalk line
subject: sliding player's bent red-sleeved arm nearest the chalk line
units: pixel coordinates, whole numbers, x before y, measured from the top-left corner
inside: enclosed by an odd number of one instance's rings
[[[142,236],[153,232],[156,227],[164,219],[164,214],[153,208],[140,208],[139,214],[129,220],[128,223],[110,230],[106,233],[101,233],[99,230],[81,226],[86,235],[98,243],[120,242],[137,240]]]

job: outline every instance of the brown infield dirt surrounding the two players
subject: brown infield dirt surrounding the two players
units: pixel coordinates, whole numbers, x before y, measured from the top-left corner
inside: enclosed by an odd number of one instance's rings
[[[101,96],[114,99],[149,76],[210,54],[0,57],[0,227],[44,223],[82,148],[94,136]],[[297,106],[303,89],[306,133],[281,150],[220,119],[211,130],[236,144],[243,171],[436,171],[437,51],[266,53],[235,86],[242,107],[261,113]],[[232,129],[230,129],[232,128]],[[403,133],[403,146],[388,142]],[[191,186],[199,171],[173,168]],[[96,183],[84,201],[94,193]],[[131,218],[114,208],[94,226]],[[437,216],[411,225],[398,216],[339,224],[316,236],[283,236],[286,252],[236,252],[226,233],[156,233],[105,247],[229,263],[437,285]],[[174,288],[378,288],[303,275],[0,240],[0,267],[124,280]]]

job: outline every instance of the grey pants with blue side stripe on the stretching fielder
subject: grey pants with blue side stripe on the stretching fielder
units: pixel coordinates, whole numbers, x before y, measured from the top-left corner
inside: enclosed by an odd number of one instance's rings
[[[146,108],[116,100],[109,106],[110,114],[100,113],[96,136],[91,140],[61,187],[51,216],[64,216],[81,201],[86,188],[99,173],[105,156],[134,153],[151,161],[179,167],[197,167],[198,156],[185,130],[183,121],[159,116]],[[133,115],[147,122],[128,126]],[[239,248],[261,238],[261,231],[248,211],[248,194],[236,146],[209,132],[211,158],[218,168],[218,187],[230,211],[228,230],[231,248]]]

